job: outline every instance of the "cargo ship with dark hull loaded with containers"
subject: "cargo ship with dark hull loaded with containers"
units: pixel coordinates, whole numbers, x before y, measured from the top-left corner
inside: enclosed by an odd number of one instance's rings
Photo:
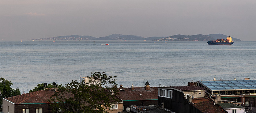
[[[216,39],[215,41],[208,41],[208,45],[231,45],[234,42],[232,38],[229,36],[227,39]]]

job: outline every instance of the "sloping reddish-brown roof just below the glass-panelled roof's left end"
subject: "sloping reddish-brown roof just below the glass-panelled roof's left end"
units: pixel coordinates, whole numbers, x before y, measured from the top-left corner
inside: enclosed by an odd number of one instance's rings
[[[192,102],[194,103],[192,105],[203,113],[228,113],[226,110],[214,105],[210,98],[197,98],[193,99]]]

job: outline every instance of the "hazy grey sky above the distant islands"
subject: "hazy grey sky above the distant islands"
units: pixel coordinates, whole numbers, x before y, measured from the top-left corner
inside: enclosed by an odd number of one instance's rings
[[[0,0],[0,39],[111,34],[256,41],[256,0]]]

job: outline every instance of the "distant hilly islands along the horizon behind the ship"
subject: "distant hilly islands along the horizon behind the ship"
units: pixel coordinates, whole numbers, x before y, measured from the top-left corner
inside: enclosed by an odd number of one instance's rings
[[[67,35],[67,36],[58,36],[58,37],[49,37],[49,38],[40,38],[40,39],[30,39],[30,40],[144,40],[144,41],[209,41],[216,39],[226,39],[227,35],[223,34],[197,34],[197,35],[173,35],[167,37],[141,37],[136,35],[122,35],[122,34],[112,34],[106,37],[92,37],[88,35]],[[241,41],[238,38],[233,38],[233,41]]]

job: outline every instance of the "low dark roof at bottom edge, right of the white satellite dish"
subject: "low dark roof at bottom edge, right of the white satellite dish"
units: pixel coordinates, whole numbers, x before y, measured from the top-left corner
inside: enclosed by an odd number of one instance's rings
[[[174,113],[167,109],[158,108],[156,106],[135,106],[136,111],[139,113]],[[133,111],[133,110],[132,110]]]

